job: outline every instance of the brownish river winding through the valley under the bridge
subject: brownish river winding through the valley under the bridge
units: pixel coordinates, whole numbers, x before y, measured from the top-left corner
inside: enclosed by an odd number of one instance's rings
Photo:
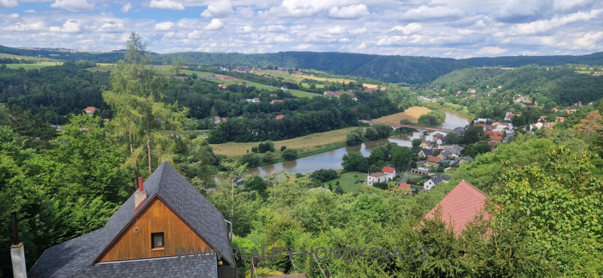
[[[446,112],[446,121],[442,124],[442,128],[454,129],[459,126],[464,127],[471,121],[471,117],[465,113],[452,109],[443,110]],[[436,132],[428,132],[428,134],[430,133]],[[411,147],[412,140],[416,138],[421,138],[419,131],[402,133],[389,138],[363,143],[362,145],[339,148],[328,152],[322,152],[317,155],[311,155],[309,157],[298,158],[297,160],[251,168],[249,169],[248,174],[264,177],[267,174],[273,174],[280,170],[305,174],[306,172],[316,171],[317,169],[343,169],[343,167],[341,167],[341,158],[348,152],[360,152],[364,156],[369,156],[371,150],[379,146],[385,146],[388,143],[397,143],[398,145]]]

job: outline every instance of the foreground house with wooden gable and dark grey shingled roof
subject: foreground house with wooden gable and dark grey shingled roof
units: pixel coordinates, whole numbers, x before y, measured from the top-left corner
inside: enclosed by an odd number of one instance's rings
[[[228,225],[164,161],[146,181],[138,178],[138,190],[104,228],[48,248],[27,277],[238,277]],[[182,248],[204,259],[184,260]]]

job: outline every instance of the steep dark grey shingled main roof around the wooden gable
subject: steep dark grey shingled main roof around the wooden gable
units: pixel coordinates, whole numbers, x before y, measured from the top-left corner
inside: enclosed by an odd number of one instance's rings
[[[223,259],[232,265],[232,255],[224,216],[177,169],[163,162],[144,183],[147,200],[134,211],[134,196],[107,221],[104,228],[81,235],[45,250],[28,272],[28,277],[72,278],[88,267],[109,247],[143,208],[158,196],[167,206],[201,235],[214,250],[223,250]],[[159,277],[159,276],[157,276]]]

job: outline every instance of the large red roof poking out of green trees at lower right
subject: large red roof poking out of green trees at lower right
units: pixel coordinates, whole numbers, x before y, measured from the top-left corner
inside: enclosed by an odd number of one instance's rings
[[[441,208],[442,221],[448,223],[448,225],[453,224],[455,233],[459,233],[465,230],[465,223],[482,211],[484,200],[489,197],[463,179],[463,182],[457,184],[442,201],[427,213],[425,218],[433,218],[436,209]]]

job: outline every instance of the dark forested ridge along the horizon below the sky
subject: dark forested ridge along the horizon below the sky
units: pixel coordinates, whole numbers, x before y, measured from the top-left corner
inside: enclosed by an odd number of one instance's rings
[[[0,45],[0,52],[23,56],[52,57],[62,60],[90,60],[93,62],[117,62],[122,52],[66,53],[48,50],[22,50]],[[66,56],[69,55],[69,56]],[[521,67],[524,65],[603,65],[603,52],[582,56],[514,56],[452,59],[397,55],[369,55],[347,52],[277,52],[265,54],[177,52],[154,54],[157,64],[182,57],[185,65],[257,65],[314,69],[332,74],[351,75],[384,82],[409,83],[426,86],[438,77],[467,67],[499,66]]]

